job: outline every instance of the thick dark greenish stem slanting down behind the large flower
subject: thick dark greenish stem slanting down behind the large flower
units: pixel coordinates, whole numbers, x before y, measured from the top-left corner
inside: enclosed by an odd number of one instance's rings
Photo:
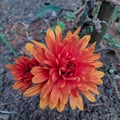
[[[92,33],[92,39],[91,43],[97,41],[97,47],[104,37],[107,28],[110,26],[110,23],[112,22],[112,16],[115,11],[115,5],[112,5],[110,2],[103,1],[100,11],[98,13],[98,18],[103,21],[101,22],[102,30],[100,33],[98,33],[96,30]]]

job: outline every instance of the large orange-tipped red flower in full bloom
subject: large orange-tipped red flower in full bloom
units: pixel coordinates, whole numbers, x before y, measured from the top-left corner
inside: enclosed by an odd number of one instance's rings
[[[98,61],[99,54],[95,54],[95,43],[87,47],[90,36],[85,35],[79,40],[78,28],[73,34],[67,32],[62,40],[59,26],[55,33],[47,30],[46,45],[32,40],[26,44],[26,49],[40,63],[32,68],[31,73],[34,86],[25,91],[25,96],[40,94],[40,108],[47,106],[63,111],[69,101],[72,109],[83,110],[84,95],[89,101],[95,102],[99,95],[97,85],[103,84],[102,71],[97,68],[103,66]]]

